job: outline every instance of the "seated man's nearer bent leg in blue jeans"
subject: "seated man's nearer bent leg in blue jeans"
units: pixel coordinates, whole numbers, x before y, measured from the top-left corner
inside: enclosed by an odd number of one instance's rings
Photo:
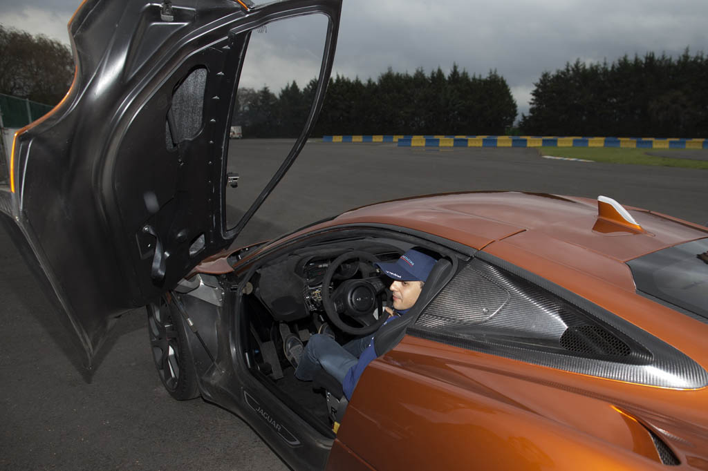
[[[346,351],[335,339],[328,335],[315,334],[310,337],[305,346],[302,358],[295,370],[295,378],[312,381],[319,368],[323,368],[324,371],[342,383],[349,368],[357,362],[358,359]]]

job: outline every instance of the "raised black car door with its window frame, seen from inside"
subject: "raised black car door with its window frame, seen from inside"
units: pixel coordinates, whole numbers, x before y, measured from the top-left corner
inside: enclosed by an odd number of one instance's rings
[[[249,2],[250,4],[250,2]],[[113,318],[226,248],[292,165],[319,113],[340,0],[89,0],[71,23],[76,76],[18,132],[0,209],[18,226],[90,365]],[[329,18],[302,134],[234,228],[225,227],[229,124],[254,28]],[[17,232],[17,231],[16,231]]]

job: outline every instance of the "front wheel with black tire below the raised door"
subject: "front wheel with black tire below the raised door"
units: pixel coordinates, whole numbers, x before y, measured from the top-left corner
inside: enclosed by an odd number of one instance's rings
[[[198,397],[199,388],[192,354],[175,315],[165,296],[147,305],[147,332],[157,373],[167,392],[182,401]]]

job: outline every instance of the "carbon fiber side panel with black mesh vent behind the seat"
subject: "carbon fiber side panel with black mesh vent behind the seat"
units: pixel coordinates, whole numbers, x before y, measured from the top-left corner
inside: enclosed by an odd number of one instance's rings
[[[666,342],[560,286],[528,275],[518,267],[510,272],[474,259],[430,303],[409,333],[629,383],[681,389],[708,385],[708,373]]]

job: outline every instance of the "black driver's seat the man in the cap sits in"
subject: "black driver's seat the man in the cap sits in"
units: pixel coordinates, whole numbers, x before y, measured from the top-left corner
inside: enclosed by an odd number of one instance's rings
[[[387,351],[390,351],[401,342],[401,339],[403,339],[406,334],[406,327],[418,318],[423,308],[440,292],[442,286],[445,286],[447,281],[450,281],[452,274],[455,273],[454,268],[456,265],[455,260],[450,262],[450,260],[445,258],[441,258],[438,262],[435,262],[433,269],[431,269],[430,274],[428,274],[426,284],[423,285],[421,294],[418,296],[416,305],[406,313],[404,318],[399,319],[397,322],[384,324],[375,332],[373,342],[377,358]],[[327,400],[327,410],[329,411],[329,417],[333,423],[332,430],[336,434],[339,429],[339,424],[344,417],[346,407],[349,404],[349,401],[344,396],[342,385],[334,376],[331,376],[331,374],[324,371],[324,369],[320,369],[313,380],[313,386],[314,388],[324,389]]]

